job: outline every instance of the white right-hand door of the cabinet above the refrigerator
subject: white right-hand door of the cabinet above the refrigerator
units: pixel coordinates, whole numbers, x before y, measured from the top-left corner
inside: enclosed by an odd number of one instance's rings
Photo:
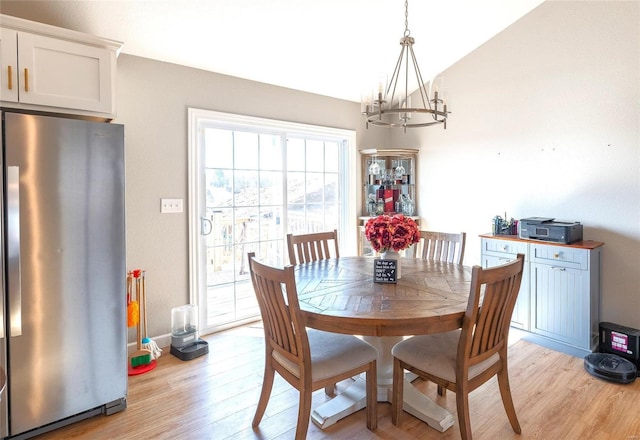
[[[113,113],[113,51],[18,32],[18,61],[21,103]]]

